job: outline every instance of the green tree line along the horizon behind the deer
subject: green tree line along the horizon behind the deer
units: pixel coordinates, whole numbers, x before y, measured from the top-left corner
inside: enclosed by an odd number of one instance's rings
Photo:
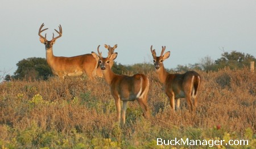
[[[201,59],[199,63],[188,65],[177,65],[175,69],[169,69],[172,72],[182,72],[188,70],[201,70],[201,71],[218,71],[229,67],[229,69],[242,69],[249,67],[251,61],[256,61],[255,57],[250,54],[232,51],[230,53],[224,52],[221,57],[213,60],[209,56]],[[51,77],[52,71],[48,66],[46,58],[27,58],[22,59],[16,63],[18,69],[14,75],[6,75],[4,80],[10,81],[13,79],[42,79],[47,80]],[[153,63],[136,63],[134,65],[122,65],[121,63],[114,62],[112,67],[114,73],[117,74],[134,74],[134,73],[148,73],[154,70]]]

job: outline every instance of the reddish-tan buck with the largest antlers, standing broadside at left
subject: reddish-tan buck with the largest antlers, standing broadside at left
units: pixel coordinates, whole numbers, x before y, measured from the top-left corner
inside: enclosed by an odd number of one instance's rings
[[[84,54],[75,57],[56,57],[53,55],[52,46],[56,39],[62,36],[62,28],[59,26],[59,31],[55,31],[59,36],[52,36],[52,40],[48,41],[46,35],[42,36],[41,33],[48,28],[42,29],[44,23],[40,26],[38,35],[40,41],[46,46],[46,60],[52,69],[52,73],[63,78],[65,76],[81,76],[86,74],[90,79],[96,75],[97,61],[93,58],[92,54]]]

